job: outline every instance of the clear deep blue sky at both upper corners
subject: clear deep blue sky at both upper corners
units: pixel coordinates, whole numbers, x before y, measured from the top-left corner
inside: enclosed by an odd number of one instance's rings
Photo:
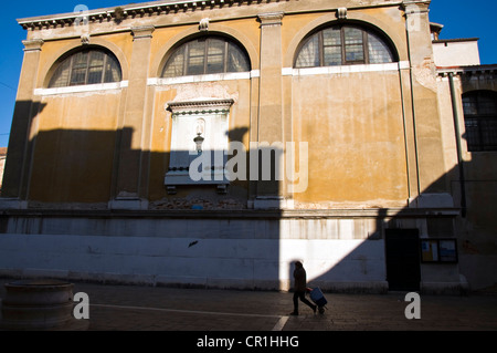
[[[308,0],[311,1],[311,0]],[[9,143],[15,91],[23,58],[22,40],[25,31],[17,19],[73,12],[77,4],[89,9],[115,7],[133,1],[80,0],[80,1],[34,1],[3,2],[0,19],[2,33],[2,55],[0,61],[0,147]],[[139,1],[136,1],[139,2]],[[479,38],[483,64],[497,63],[497,1],[495,0],[432,0],[430,20],[444,24],[442,39]]]

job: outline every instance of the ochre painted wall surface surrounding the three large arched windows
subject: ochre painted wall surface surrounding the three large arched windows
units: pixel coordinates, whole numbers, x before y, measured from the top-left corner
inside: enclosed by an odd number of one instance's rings
[[[119,193],[126,196],[135,191],[149,201],[170,198],[163,185],[171,143],[167,103],[209,97],[234,101],[229,128],[235,134],[231,137],[241,139],[247,149],[250,142],[260,138],[258,134],[269,139],[273,134],[275,141],[283,143],[309,144],[308,188],[285,195],[293,196],[296,203],[309,207],[320,204],[325,208],[405,206],[413,196],[413,175],[421,176],[420,185],[425,189],[444,173],[438,154],[442,145],[436,90],[431,87],[434,77],[430,76],[430,33],[420,31],[409,39],[411,45],[421,48],[411,62],[415,110],[410,110],[412,96],[405,65],[403,73],[395,70],[396,64],[388,70],[377,66],[350,73],[299,75],[292,71],[306,35],[322,25],[338,23],[336,9],[324,2],[313,2],[313,7],[315,11],[292,1],[209,12],[207,33],[236,40],[251,59],[250,76],[240,80],[163,84],[158,77],[176,45],[204,34],[199,31],[199,21],[205,18],[200,10],[158,18],[137,15],[119,24],[92,22],[91,45],[105,46],[116,54],[126,84],[113,90],[32,95],[33,102],[41,105],[29,133],[33,154],[31,162],[25,159],[27,198],[40,203],[107,203]],[[274,15],[277,9],[284,13]],[[405,18],[399,7],[351,6],[346,21],[383,32],[399,61],[405,64],[410,59]],[[82,48],[81,33],[71,27],[40,33],[28,34],[29,39],[45,39],[38,62],[38,90],[46,87],[54,63],[64,53]],[[263,50],[263,37],[266,45],[269,41],[281,43],[281,48]],[[144,50],[147,52],[141,53]],[[140,68],[139,74],[133,72],[138,68],[134,69],[133,63]],[[147,63],[148,69],[142,70]],[[271,80],[263,80],[264,74],[269,74]],[[137,91],[141,87],[146,87],[146,94]],[[269,96],[274,96],[274,102]],[[410,111],[416,113],[420,133],[416,138],[422,156],[417,174],[412,166]],[[130,183],[126,183],[128,178]],[[253,196],[248,183],[232,185],[236,186],[239,198],[247,200]],[[121,186],[125,187],[119,190]],[[443,183],[436,186],[436,190],[443,189]],[[194,188],[187,188],[179,196],[195,193]]]

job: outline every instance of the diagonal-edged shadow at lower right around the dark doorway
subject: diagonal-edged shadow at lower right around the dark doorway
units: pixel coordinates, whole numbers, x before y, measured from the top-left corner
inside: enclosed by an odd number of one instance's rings
[[[357,285],[357,291],[369,292],[371,285],[363,285],[369,282],[378,291],[429,293],[465,293],[495,285],[497,214],[488,207],[497,198],[495,158],[473,154],[423,190],[412,207],[371,210],[374,226],[369,230],[363,219],[342,219],[327,227],[335,229],[328,238],[345,239],[334,233],[348,227],[352,229],[349,237],[356,239],[342,241],[349,249],[334,255],[332,266],[322,266],[321,259],[337,252],[326,241],[308,255],[310,284],[334,283],[332,291]],[[443,185],[447,193],[440,189]]]

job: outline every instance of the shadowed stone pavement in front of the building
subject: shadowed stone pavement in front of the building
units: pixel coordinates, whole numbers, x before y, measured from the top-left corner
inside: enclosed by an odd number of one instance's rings
[[[4,283],[0,279],[0,298]],[[89,299],[88,331],[496,331],[497,293],[421,295],[421,319],[405,318],[405,293],[325,293],[328,305],[315,314],[300,303],[290,316],[293,294],[271,291],[184,289],[74,282]]]

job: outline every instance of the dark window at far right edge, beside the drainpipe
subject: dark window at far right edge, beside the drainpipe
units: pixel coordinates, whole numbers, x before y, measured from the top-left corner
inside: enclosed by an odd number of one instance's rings
[[[463,107],[467,149],[497,150],[497,92],[465,93]]]

